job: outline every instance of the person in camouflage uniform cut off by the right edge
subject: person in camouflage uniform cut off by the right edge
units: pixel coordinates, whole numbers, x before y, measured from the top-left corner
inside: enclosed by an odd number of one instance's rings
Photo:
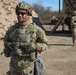
[[[73,12],[73,17],[71,21],[72,36],[73,36],[73,46],[76,46],[76,11]]]

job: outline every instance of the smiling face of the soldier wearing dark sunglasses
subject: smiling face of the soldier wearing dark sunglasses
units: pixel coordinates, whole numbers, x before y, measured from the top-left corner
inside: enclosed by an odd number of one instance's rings
[[[17,18],[19,22],[26,22],[29,19],[28,12],[25,10],[18,10]]]

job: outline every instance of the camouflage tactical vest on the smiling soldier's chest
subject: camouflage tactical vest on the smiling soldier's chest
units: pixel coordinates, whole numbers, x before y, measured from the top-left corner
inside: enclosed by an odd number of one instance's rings
[[[33,43],[36,42],[36,28],[32,24],[25,26],[15,25],[15,27],[10,31],[10,41],[18,42],[19,45],[22,43]],[[18,54],[19,56],[27,56],[28,53],[20,48],[16,48],[12,51],[12,54]]]

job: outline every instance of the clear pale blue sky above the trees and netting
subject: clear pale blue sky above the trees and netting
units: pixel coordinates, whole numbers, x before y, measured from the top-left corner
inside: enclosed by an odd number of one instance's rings
[[[47,6],[50,6],[52,7],[52,10],[53,11],[58,11],[59,9],[59,0],[19,0],[19,2],[27,2],[29,3],[30,5],[32,5],[33,3],[41,3],[43,6],[47,7]],[[61,0],[61,8],[62,8],[62,0]]]

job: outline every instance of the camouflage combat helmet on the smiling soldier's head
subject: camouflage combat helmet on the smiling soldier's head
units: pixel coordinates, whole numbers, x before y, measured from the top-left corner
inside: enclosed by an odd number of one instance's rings
[[[19,9],[22,9],[22,10],[27,10],[29,15],[32,16],[32,7],[28,4],[28,3],[25,3],[25,2],[21,2],[19,3],[17,6],[16,6],[16,13]]]

